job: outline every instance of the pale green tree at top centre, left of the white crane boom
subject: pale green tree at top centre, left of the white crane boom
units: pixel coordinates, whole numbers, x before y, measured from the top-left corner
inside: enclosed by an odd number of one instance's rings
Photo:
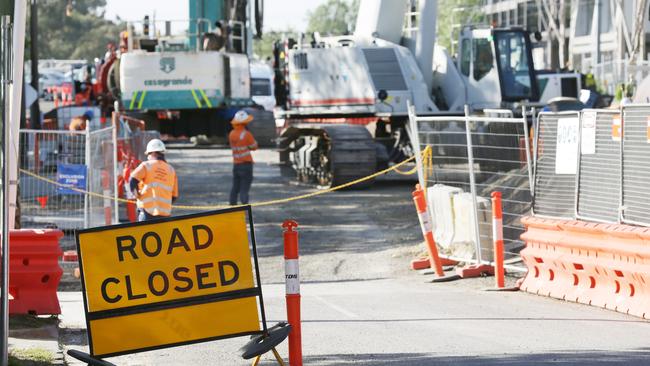
[[[307,33],[342,35],[354,31],[359,11],[359,0],[328,0],[308,13]]]

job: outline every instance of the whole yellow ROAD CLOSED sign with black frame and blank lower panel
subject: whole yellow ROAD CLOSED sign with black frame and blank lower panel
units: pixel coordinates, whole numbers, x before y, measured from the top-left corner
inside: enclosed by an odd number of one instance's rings
[[[244,207],[79,231],[91,355],[260,333],[251,218]]]

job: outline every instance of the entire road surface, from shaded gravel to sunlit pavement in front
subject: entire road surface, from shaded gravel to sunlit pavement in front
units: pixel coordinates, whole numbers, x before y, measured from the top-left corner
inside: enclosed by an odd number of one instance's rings
[[[183,205],[224,204],[225,149],[172,150]],[[255,154],[253,202],[313,191],[282,177],[276,154]],[[525,293],[482,289],[492,279],[432,284],[408,270],[423,252],[413,182],[253,208],[269,325],[286,319],[283,220],[300,224],[306,365],[639,365],[650,360],[650,323]],[[176,214],[183,212],[177,211]],[[79,292],[61,293],[64,344],[84,349]],[[210,314],[205,315],[210,321]],[[118,365],[246,365],[235,338],[110,359]],[[286,343],[279,347],[287,356]],[[274,364],[267,355],[263,365]]]

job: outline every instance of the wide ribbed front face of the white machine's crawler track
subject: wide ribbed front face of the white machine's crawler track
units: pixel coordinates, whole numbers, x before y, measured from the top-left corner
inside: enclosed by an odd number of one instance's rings
[[[376,171],[377,151],[370,132],[364,126],[323,126],[331,141],[330,164],[333,169],[332,186],[348,183]],[[372,180],[355,185],[368,187]]]

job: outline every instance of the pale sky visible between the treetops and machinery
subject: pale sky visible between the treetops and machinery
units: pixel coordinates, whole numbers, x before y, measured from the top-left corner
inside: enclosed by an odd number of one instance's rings
[[[307,13],[326,0],[264,0],[264,30],[285,30],[292,28],[304,31],[307,28]],[[145,15],[158,20],[187,20],[189,5],[179,0],[106,0],[105,17],[115,20],[141,20]]]

